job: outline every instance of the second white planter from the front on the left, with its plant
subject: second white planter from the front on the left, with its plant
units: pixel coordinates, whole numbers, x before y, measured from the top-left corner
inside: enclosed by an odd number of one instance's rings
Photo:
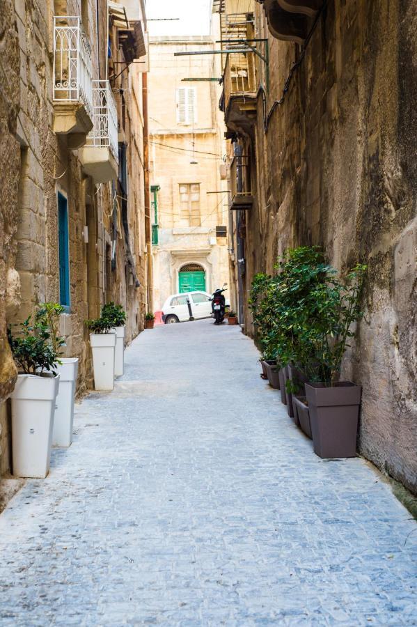
[[[59,359],[55,370],[59,375],[58,396],[56,396],[54,430],[52,432],[53,447],[70,447],[72,443],[72,426],[74,423],[75,384],[78,374],[77,357],[61,357],[61,348],[65,343],[58,336],[59,318],[65,309],[61,304],[45,302],[36,313],[36,319],[49,327],[52,348]]]

